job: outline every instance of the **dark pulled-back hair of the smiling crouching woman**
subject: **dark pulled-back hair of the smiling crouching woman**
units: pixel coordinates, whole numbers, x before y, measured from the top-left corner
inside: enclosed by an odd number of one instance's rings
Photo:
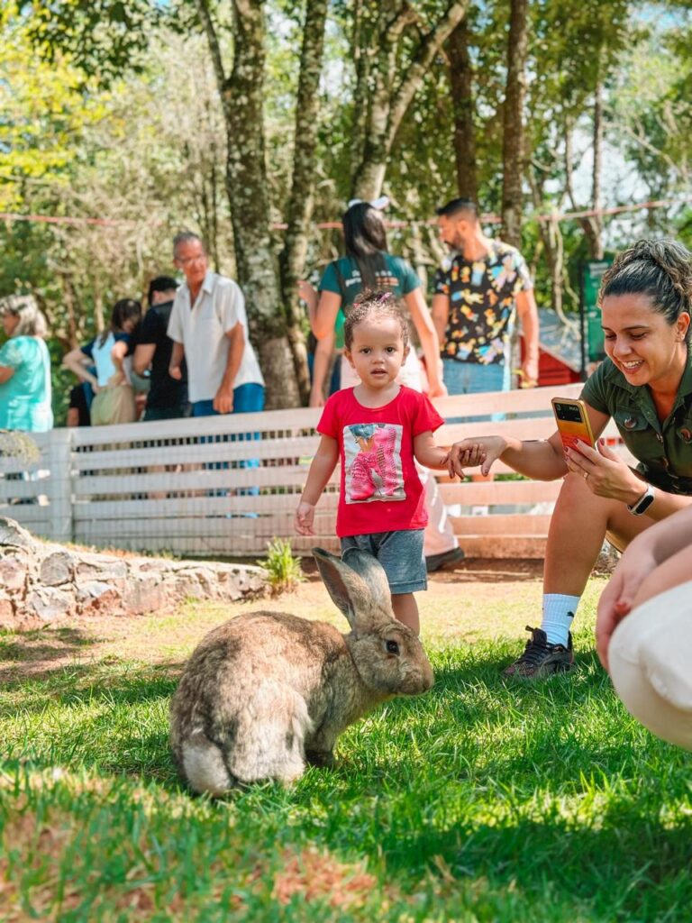
[[[649,295],[672,327],[681,314],[692,313],[692,254],[674,240],[638,240],[603,273],[599,305],[619,294]]]

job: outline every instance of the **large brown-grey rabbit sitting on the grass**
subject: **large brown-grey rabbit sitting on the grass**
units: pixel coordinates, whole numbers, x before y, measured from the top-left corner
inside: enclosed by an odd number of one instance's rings
[[[433,685],[423,645],[393,616],[376,558],[313,553],[351,632],[282,612],[209,632],[171,702],[173,756],[197,792],[260,779],[289,785],[306,761],[330,764],[341,731],[376,704]]]

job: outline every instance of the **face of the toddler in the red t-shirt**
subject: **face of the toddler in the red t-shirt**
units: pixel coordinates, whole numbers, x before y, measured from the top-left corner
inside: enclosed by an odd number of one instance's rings
[[[368,388],[379,390],[399,375],[404,350],[397,318],[365,318],[353,328],[351,349],[344,351],[356,374]]]

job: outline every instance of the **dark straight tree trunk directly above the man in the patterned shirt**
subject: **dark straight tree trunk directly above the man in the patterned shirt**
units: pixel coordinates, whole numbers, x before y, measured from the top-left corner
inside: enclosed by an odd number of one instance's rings
[[[476,132],[473,122],[473,67],[469,54],[469,19],[464,17],[447,41],[449,86],[454,118],[454,156],[459,196],[478,200]]]

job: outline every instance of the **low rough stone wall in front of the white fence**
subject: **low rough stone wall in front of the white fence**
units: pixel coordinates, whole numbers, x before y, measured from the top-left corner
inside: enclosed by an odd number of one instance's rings
[[[0,517],[0,628],[34,629],[74,616],[140,615],[186,599],[261,594],[261,568],[155,557],[115,557],[39,541]]]

